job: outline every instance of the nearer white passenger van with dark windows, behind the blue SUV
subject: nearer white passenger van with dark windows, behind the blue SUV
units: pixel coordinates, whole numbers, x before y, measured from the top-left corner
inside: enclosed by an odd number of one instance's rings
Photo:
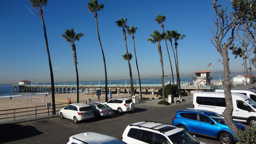
[[[233,101],[233,120],[256,124],[256,103],[243,94],[231,93]],[[226,108],[224,93],[197,92],[194,94],[193,107],[213,111],[221,116]]]

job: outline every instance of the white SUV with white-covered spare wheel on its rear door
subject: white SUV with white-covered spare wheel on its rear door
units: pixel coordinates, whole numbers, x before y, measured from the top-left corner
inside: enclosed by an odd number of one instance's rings
[[[114,98],[106,102],[106,104],[118,113],[128,112],[135,109],[134,103],[128,98]]]

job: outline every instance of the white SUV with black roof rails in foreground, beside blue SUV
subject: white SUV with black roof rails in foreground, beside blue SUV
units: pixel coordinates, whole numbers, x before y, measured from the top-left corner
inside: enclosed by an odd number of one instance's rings
[[[126,127],[122,140],[129,144],[205,144],[187,131],[160,122],[136,122]]]

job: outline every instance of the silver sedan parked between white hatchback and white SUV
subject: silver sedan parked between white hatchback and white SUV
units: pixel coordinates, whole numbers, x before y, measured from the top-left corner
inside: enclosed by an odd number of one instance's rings
[[[104,117],[111,116],[112,114],[114,114],[113,109],[105,103],[93,102],[89,105],[91,105],[91,107],[93,108],[94,114],[96,116]]]

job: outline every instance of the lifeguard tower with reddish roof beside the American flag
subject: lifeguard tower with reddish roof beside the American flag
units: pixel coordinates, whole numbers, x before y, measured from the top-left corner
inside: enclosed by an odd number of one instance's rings
[[[209,71],[197,71],[196,76],[193,77],[194,86],[205,86],[211,85],[212,76],[210,76]]]

